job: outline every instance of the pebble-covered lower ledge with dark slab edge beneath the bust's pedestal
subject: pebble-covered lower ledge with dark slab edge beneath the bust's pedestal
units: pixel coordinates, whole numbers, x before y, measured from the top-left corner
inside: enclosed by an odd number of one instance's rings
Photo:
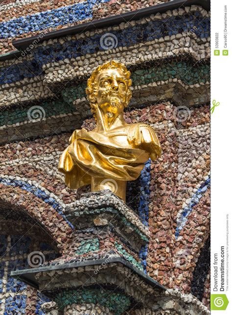
[[[65,295],[63,295],[63,292],[66,294],[65,292],[69,292],[72,289],[75,289],[77,292],[79,290],[81,292],[83,290],[90,292],[99,288],[98,290],[103,290],[103,293],[110,289],[116,294],[121,294],[122,298],[127,299],[127,301],[130,300],[131,304],[127,303],[126,311],[128,314],[142,315],[144,312],[148,315],[209,314],[207,307],[192,294],[182,294],[177,289],[165,290],[155,280],[142,274],[130,264],[119,262],[117,258],[112,258],[109,264],[104,264],[105,260],[102,261],[100,262],[99,260],[98,265],[93,265],[93,261],[89,261],[85,262],[85,264],[66,264],[55,267],[47,266],[18,270],[12,272],[11,275],[15,276],[21,273],[20,279],[23,280],[23,275],[25,280],[26,274],[27,276],[29,273],[36,274],[35,278],[40,283],[40,289],[46,295],[52,296],[58,302],[58,305],[64,304]],[[59,301],[60,298],[61,301]],[[87,300],[81,301],[79,306],[77,304],[75,304],[76,306],[73,305],[74,300],[71,301],[70,306],[68,301],[66,301],[68,303],[66,303],[66,310],[70,311],[74,307],[74,309],[77,308],[76,311],[81,311],[85,306],[87,307],[88,296],[86,298]],[[135,305],[137,308],[134,307]],[[131,313],[132,311],[134,313]],[[121,313],[113,312],[113,314]]]

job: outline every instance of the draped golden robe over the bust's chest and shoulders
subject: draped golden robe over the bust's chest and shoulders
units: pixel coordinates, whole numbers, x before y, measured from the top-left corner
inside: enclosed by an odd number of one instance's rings
[[[90,184],[91,177],[135,180],[149,157],[156,160],[161,155],[155,131],[143,123],[127,124],[107,135],[75,130],[69,142],[58,170],[65,174],[65,183],[71,189]]]

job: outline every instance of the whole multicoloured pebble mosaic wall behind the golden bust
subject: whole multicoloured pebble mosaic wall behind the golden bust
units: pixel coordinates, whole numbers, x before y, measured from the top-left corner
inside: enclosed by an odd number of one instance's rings
[[[13,39],[159,2],[5,0],[0,7],[4,13],[1,53],[14,49]],[[9,277],[9,270],[27,266],[29,252],[45,253],[46,261],[57,265],[98,259],[99,253],[107,257],[109,248],[166,288],[179,290],[179,295],[181,291],[186,303],[202,301],[209,307],[210,279],[204,263],[209,254],[209,26],[209,12],[198,5],[183,6],[104,29],[41,40],[27,54],[22,51],[19,58],[0,61],[0,227],[4,231],[0,251],[9,255],[14,250],[8,261],[0,259],[0,314],[4,310],[44,314],[41,305],[47,298]],[[102,46],[106,33],[116,40],[111,48]],[[85,95],[86,80],[96,63],[111,59],[124,62],[132,73],[133,97],[125,121],[149,124],[162,145],[162,157],[156,163],[147,161],[140,177],[127,185],[126,203],[139,215],[143,233],[137,232],[146,241],[136,250],[107,227],[89,231],[84,226],[78,236],[65,207],[90,192],[90,187],[71,191],[57,172],[71,132],[95,126]],[[133,223],[136,228],[139,219]],[[30,227],[39,223],[40,228],[33,228],[18,244],[23,220]],[[132,221],[124,223],[135,228]],[[7,225],[14,226],[14,233]],[[35,241],[41,231],[48,239]],[[190,292],[198,300],[185,295]],[[88,292],[90,297],[92,293]],[[127,305],[127,296],[118,300]],[[113,303],[104,310],[113,312],[114,307]],[[69,314],[69,306],[66,311]]]

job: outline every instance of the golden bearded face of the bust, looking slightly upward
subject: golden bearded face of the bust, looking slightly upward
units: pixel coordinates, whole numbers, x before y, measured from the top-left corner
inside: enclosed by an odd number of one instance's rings
[[[104,69],[96,77],[96,101],[104,114],[120,114],[126,105],[128,79],[120,69]]]

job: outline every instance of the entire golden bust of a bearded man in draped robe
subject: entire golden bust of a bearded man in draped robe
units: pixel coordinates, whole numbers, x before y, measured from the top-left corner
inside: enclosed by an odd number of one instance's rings
[[[71,189],[91,184],[91,191],[110,189],[125,200],[126,182],[139,177],[149,157],[156,160],[161,146],[147,124],[128,124],[123,110],[131,99],[130,72],[114,60],[98,66],[87,81],[96,127],[75,130],[60,157],[58,170]]]

